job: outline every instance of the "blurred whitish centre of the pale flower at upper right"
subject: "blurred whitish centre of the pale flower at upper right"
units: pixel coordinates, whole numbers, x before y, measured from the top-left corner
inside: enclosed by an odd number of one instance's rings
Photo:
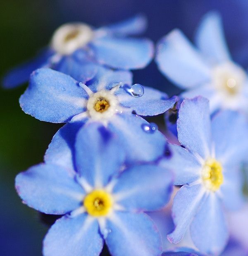
[[[216,66],[212,71],[212,77],[214,86],[219,92],[227,97],[234,97],[244,85],[246,72],[234,63],[228,62]]]

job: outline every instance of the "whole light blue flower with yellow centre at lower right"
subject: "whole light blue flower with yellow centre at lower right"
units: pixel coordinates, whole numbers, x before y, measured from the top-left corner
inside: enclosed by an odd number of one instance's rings
[[[162,160],[176,174],[174,185],[182,185],[172,206],[174,231],[168,235],[178,243],[190,227],[196,247],[218,254],[227,243],[224,208],[237,210],[243,203],[240,165],[247,150],[246,118],[235,111],[220,111],[210,121],[208,100],[185,99],[179,109],[178,139],[171,145],[172,157]]]

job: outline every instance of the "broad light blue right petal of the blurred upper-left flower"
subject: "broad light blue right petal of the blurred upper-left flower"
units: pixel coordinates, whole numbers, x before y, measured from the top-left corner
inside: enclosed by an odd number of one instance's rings
[[[95,58],[112,68],[144,68],[153,58],[153,43],[148,39],[103,37],[92,42]]]

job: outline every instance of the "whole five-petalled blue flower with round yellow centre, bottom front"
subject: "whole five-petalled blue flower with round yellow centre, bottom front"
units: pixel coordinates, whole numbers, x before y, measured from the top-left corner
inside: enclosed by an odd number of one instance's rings
[[[24,203],[64,215],[45,236],[43,254],[99,255],[105,240],[114,256],[161,255],[160,234],[143,212],[169,201],[172,174],[157,164],[126,167],[122,144],[99,123],[81,128],[71,154],[73,168],[50,158],[16,177]]]

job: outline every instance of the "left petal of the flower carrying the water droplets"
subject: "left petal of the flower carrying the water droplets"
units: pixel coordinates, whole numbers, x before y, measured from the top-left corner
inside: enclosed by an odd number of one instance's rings
[[[88,94],[72,77],[51,69],[38,69],[20,97],[26,114],[41,121],[64,123],[86,110]]]

